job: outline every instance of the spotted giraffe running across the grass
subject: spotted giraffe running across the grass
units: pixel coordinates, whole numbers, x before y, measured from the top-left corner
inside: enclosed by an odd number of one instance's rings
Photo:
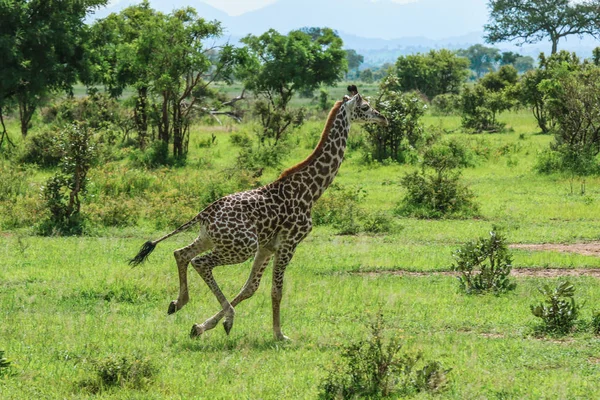
[[[173,232],[146,242],[130,261],[142,263],[156,245],[193,225],[200,225],[198,237],[189,245],[175,250],[179,273],[179,295],[169,304],[168,314],[179,311],[189,300],[187,269],[191,264],[217,298],[221,310],[202,324],[194,324],[190,336],[197,337],[213,329],[223,317],[229,335],[235,307],[254,294],[271,258],[273,335],[275,340],[288,339],[281,331],[280,304],[283,276],[298,244],[312,229],[311,210],[335,178],[344,157],[351,121],[387,125],[387,119],[373,109],[348,86],[352,96],[336,102],[327,118],[321,139],[314,151],[299,164],[285,170],[272,183],[258,189],[225,196],[202,210]],[[238,264],[254,256],[246,283],[230,302],[213,277],[220,265]]]

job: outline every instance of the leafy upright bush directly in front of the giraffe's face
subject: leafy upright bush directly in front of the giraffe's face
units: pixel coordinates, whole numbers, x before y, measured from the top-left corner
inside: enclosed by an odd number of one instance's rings
[[[423,143],[423,124],[420,119],[427,106],[417,93],[395,91],[397,82],[396,77],[388,76],[381,84],[380,96],[374,104],[386,116],[389,124],[364,126],[371,156],[379,162],[387,159],[405,162],[407,153],[414,152]]]

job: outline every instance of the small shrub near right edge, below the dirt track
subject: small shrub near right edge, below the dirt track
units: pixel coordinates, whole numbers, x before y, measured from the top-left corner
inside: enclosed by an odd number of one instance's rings
[[[543,325],[539,330],[553,334],[571,331],[582,307],[575,302],[575,287],[569,281],[564,281],[556,287],[544,285],[538,290],[545,296],[544,302],[530,308],[534,316],[542,319]]]

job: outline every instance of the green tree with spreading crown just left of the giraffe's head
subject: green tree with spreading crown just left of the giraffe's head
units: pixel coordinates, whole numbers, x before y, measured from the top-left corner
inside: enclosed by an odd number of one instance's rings
[[[294,93],[332,85],[347,69],[342,39],[329,28],[313,28],[313,34],[307,29],[288,35],[271,29],[242,39],[247,58],[238,76],[259,99],[261,141],[276,144],[290,126],[301,123],[301,115],[288,107]]]

